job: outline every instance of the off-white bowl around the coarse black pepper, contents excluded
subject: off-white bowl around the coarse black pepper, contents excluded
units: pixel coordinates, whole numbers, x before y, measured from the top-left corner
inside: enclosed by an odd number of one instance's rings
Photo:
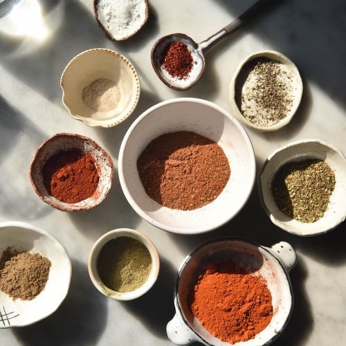
[[[247,120],[243,115],[242,112],[239,110],[239,106],[237,104],[237,100],[240,98],[240,93],[242,93],[242,86],[244,83],[244,66],[250,62],[251,60],[254,60],[259,57],[266,57],[269,60],[276,60],[278,62],[281,62],[282,64],[286,65],[289,68],[289,71],[291,72],[293,78],[292,78],[292,85],[293,85],[293,91],[291,93],[291,98],[293,98],[293,104],[290,109],[290,111],[287,113],[287,116],[280,120],[280,122],[277,122],[277,124],[272,126],[260,126],[253,124],[253,122]],[[234,116],[241,121],[244,125],[251,127],[252,129],[255,129],[256,131],[264,132],[264,131],[276,131],[278,129],[281,129],[285,125],[287,125],[291,119],[293,118],[295,112],[297,111],[300,100],[302,99],[302,78],[300,77],[299,71],[297,69],[297,66],[289,60],[288,57],[284,56],[282,53],[275,52],[275,51],[260,51],[257,53],[253,53],[246,57],[239,66],[237,67],[237,70],[235,71],[235,74],[233,75],[232,80],[230,81],[230,105],[232,106]]]

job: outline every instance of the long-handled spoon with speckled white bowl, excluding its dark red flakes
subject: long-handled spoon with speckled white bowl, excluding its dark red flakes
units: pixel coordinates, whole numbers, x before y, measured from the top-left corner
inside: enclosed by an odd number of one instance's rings
[[[188,90],[197,83],[199,78],[204,71],[204,67],[206,66],[206,61],[204,59],[204,55],[209,51],[210,48],[215,46],[215,44],[219,43],[225,37],[235,33],[243,24],[248,22],[250,19],[258,15],[269,3],[273,0],[259,0],[257,1],[251,8],[248,8],[246,12],[239,16],[239,18],[235,19],[232,23],[228,24],[221,30],[219,30],[214,35],[208,37],[208,39],[203,42],[197,44],[194,40],[188,35],[176,33],[161,37],[158,39],[152,48],[152,66],[158,78],[162,80],[167,86],[171,89],[184,91]],[[276,0],[277,1],[277,0]],[[280,1],[277,1],[280,2]],[[163,69],[163,52],[165,48],[173,41],[181,41],[188,46],[192,54],[192,58],[194,61],[194,65],[192,70],[187,78],[176,78],[172,77],[170,73]]]

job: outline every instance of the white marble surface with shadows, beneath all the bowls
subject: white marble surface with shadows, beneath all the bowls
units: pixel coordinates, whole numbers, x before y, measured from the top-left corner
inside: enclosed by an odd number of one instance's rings
[[[268,134],[248,130],[257,168],[273,149],[302,138],[320,138],[345,153],[344,1],[284,1],[256,24],[213,48],[207,55],[203,78],[184,93],[171,91],[156,78],[149,60],[155,40],[182,32],[201,41],[253,0],[152,0],[145,28],[128,42],[116,44],[100,32],[91,2],[41,0],[48,30],[42,42],[0,32],[0,221],[27,221],[48,230],[66,246],[73,262],[71,289],[62,307],[31,327],[1,330],[0,345],[172,345],[165,325],[174,313],[176,268],[194,246],[215,235],[242,235],[266,246],[285,240],[296,249],[298,264],[291,271],[295,308],[275,345],[345,345],[345,224],[320,237],[289,235],[271,224],[255,189],[244,210],[229,224],[207,235],[186,237],[141,220],[125,200],[118,178],[99,208],[77,213],[60,212],[42,203],[28,181],[28,165],[35,149],[57,132],[90,136],[111,154],[116,165],[122,136],[131,122],[161,100],[204,98],[230,111],[228,84],[237,64],[263,49],[280,51],[297,64],[304,94],[298,113],[284,129]],[[30,28],[25,31],[33,34],[37,21],[30,19]],[[96,47],[126,55],[136,66],[142,85],[136,111],[111,129],[86,127],[71,118],[61,102],[64,66],[81,51]],[[133,302],[105,298],[91,284],[86,269],[93,242],[120,227],[148,235],[161,255],[158,282]]]

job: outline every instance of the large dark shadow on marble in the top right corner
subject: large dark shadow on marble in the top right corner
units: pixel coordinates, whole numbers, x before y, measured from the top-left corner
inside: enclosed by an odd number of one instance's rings
[[[215,0],[232,15],[255,1]],[[338,104],[346,107],[346,6],[343,0],[277,1],[248,30],[268,43],[268,49],[288,56],[308,80],[316,82]]]

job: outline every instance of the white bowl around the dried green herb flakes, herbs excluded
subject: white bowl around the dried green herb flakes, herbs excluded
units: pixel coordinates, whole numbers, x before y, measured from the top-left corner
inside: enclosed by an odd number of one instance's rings
[[[284,215],[277,208],[271,192],[271,182],[277,170],[292,161],[316,158],[334,170],[335,189],[325,215],[313,223],[304,223]],[[301,236],[320,235],[336,228],[346,217],[346,160],[342,152],[321,140],[298,140],[275,150],[264,162],[258,174],[262,206],[273,224],[289,233]]]

